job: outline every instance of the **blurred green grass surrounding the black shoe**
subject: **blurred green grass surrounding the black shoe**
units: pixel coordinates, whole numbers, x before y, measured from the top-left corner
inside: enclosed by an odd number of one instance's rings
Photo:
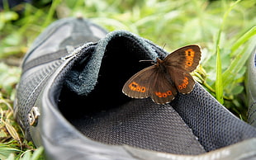
[[[5,3],[0,12],[0,159],[42,159],[43,149],[27,142],[13,119],[12,102],[22,57],[46,26],[66,16],[89,18],[108,31],[131,31],[170,52],[183,45],[201,45],[201,66],[194,77],[246,121],[244,73],[256,45],[254,0],[48,2],[12,9]]]

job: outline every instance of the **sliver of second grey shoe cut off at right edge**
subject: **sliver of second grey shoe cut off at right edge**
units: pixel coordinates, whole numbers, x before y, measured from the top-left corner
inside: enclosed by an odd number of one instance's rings
[[[248,123],[256,127],[256,47],[250,56],[247,70],[245,86],[249,106]]]

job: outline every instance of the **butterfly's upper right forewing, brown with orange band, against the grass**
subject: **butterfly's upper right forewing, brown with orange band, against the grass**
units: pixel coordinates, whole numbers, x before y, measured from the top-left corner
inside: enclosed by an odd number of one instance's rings
[[[173,51],[164,59],[164,64],[176,68],[183,68],[192,72],[197,68],[201,59],[201,48],[199,45],[187,45]]]

